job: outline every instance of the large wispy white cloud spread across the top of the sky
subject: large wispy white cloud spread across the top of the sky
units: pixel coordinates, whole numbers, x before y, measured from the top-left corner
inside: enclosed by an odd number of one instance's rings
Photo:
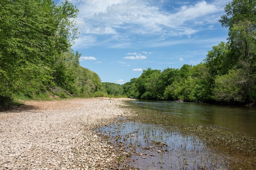
[[[75,19],[82,37],[76,41],[79,44],[75,46],[80,48],[92,45],[124,48],[132,45],[131,42],[137,42],[134,37],[138,35],[158,35],[165,38],[183,35],[190,37],[201,31],[203,25],[212,27],[213,23],[218,23],[224,11],[224,2],[221,0],[212,3],[202,0],[196,4],[184,4],[168,10],[162,10],[164,9],[162,3],[144,0],[71,0],[71,2],[80,10]],[[176,5],[175,2],[168,3]],[[86,36],[90,36],[89,39],[84,38]],[[102,42],[102,38],[107,41]]]

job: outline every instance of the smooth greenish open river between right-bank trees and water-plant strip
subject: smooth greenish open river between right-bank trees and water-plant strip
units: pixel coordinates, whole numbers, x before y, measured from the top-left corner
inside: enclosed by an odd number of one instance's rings
[[[227,128],[230,131],[256,137],[256,107],[148,100],[132,101],[132,103],[178,115],[191,122]]]

